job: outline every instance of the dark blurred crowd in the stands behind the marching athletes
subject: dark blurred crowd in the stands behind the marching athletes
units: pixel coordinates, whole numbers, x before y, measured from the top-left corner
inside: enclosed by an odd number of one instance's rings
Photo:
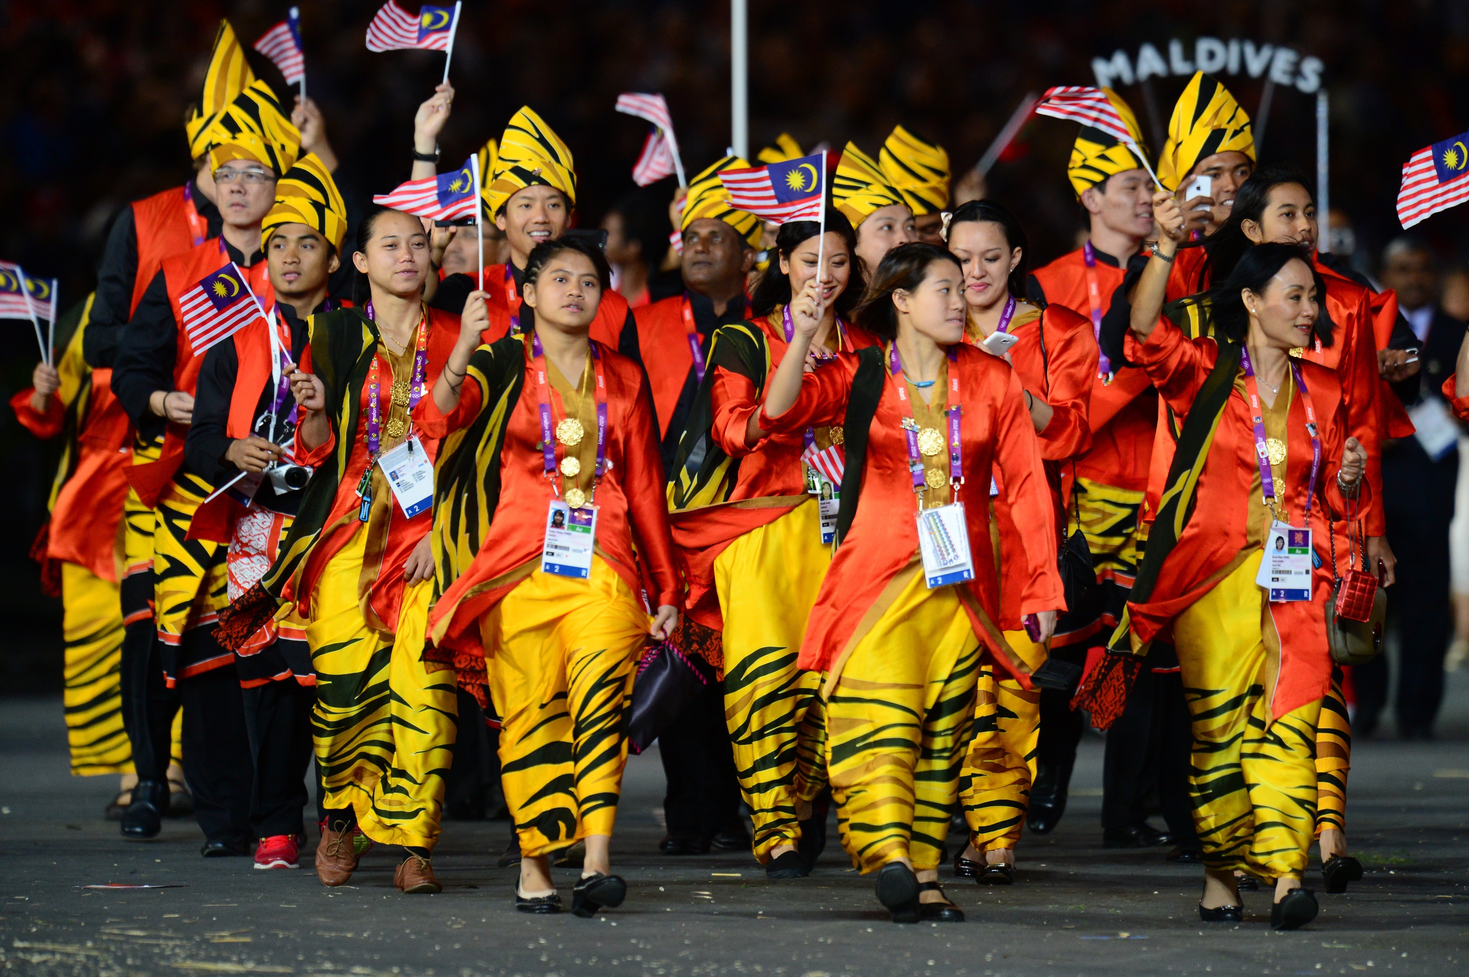
[[[416,9],[417,0],[407,0]],[[182,120],[228,16],[250,48],[289,0],[0,0],[0,258],[59,277],[62,302],[93,288],[110,222],[128,201],[190,173]],[[358,194],[407,179],[413,113],[442,73],[432,51],[373,54],[378,0],[301,0],[308,94]],[[820,0],[749,3],[751,151],[789,131],[804,147],[853,139],[876,153],[896,123],[942,142],[955,178],[978,160],[1027,91],[1096,84],[1093,57],[1200,35],[1293,47],[1325,63],[1331,204],[1350,216],[1359,263],[1396,232],[1403,161],[1469,129],[1469,4],[1453,0]],[[284,97],[279,72],[248,51]],[[570,144],[579,223],[596,226],[633,188],[645,123],[613,111],[623,91],[667,95],[689,172],[729,144],[729,3],[466,0],[444,133],[452,164],[521,104]],[[1122,87],[1156,151],[1184,78]],[[1253,114],[1262,79],[1224,76]],[[1075,246],[1065,179],[1075,126],[1033,119],[990,172],[989,192],[1022,216],[1036,263]],[[1315,172],[1315,97],[1278,87],[1260,160]],[[671,194],[671,180],[663,188]],[[1469,208],[1421,230],[1445,261],[1469,248]],[[0,321],[0,392],[29,383],[28,323]],[[46,515],[56,453],[9,411],[0,418],[0,692],[60,687],[60,607],[40,594],[28,550]]]

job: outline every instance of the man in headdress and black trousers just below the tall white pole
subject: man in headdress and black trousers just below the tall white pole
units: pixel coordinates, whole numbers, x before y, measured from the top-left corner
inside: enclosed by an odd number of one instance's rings
[[[720,173],[748,167],[727,155],[689,182],[680,232],[685,293],[635,310],[638,346],[648,370],[664,471],[673,468],[679,437],[704,381],[714,330],[748,315],[745,276],[755,264],[762,226],[754,214],[730,205]],[[696,622],[682,623],[685,647],[707,648],[718,634]],[[695,634],[701,629],[707,634]],[[692,643],[690,643],[692,638]],[[718,657],[718,656],[711,656]],[[720,662],[711,662],[718,666]],[[718,684],[685,704],[660,738],[668,792],[664,798],[668,835],[660,849],[668,855],[702,854],[710,846],[749,848],[739,822],[739,780],[724,723]]]

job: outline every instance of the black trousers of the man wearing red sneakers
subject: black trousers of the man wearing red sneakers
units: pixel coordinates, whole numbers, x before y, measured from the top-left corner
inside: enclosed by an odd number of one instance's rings
[[[304,835],[306,769],[311,763],[311,706],[316,688],[294,678],[241,689],[254,779],[250,833]],[[319,819],[320,820],[320,813]]]

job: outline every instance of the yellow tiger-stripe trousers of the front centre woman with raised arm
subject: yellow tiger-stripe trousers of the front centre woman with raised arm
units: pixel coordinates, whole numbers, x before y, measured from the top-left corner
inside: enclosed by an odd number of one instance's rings
[[[937,868],[974,716],[980,643],[953,587],[903,571],[892,606],[837,662],[826,757],[842,846],[864,874]]]

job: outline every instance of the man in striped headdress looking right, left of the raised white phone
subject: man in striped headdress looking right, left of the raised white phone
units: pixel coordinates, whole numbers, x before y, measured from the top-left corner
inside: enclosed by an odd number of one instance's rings
[[[1141,147],[1131,107],[1116,92],[1103,91]],[[1087,241],[1037,268],[1027,283],[1027,298],[1089,315],[1100,339],[1124,268],[1153,232],[1153,182],[1130,147],[1091,126],[1077,133],[1066,176],[1087,220]],[[1102,367],[1091,387],[1089,421],[1091,449],[1062,477],[1075,480],[1072,518],[1087,537],[1097,593],[1089,606],[1068,610],[1052,643],[1052,656],[1077,665],[1084,663],[1089,645],[1105,641],[1116,626],[1141,560],[1138,511],[1158,427],[1158,395],[1147,376],[1136,367]],[[1183,851],[1193,852],[1197,845],[1191,844],[1185,777],[1188,710],[1171,650],[1155,645],[1149,665],[1134,685],[1127,713],[1108,732],[1103,842],[1137,848],[1163,841],[1147,824],[1143,807],[1143,794],[1156,782],[1169,833],[1188,842]],[[1071,710],[1068,694],[1049,689],[1042,691],[1040,711],[1037,776],[1027,822],[1033,832],[1044,835],[1066,807],[1083,716]]]

